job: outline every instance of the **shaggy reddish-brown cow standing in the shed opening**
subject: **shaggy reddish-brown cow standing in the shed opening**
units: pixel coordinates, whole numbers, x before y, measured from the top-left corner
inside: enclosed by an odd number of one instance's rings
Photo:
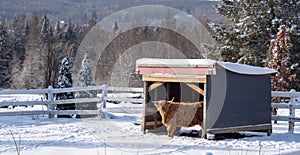
[[[167,128],[168,136],[173,137],[177,127],[192,127],[199,125],[202,129],[203,101],[194,103],[172,102],[166,100],[154,101],[154,105],[162,116],[162,123]]]

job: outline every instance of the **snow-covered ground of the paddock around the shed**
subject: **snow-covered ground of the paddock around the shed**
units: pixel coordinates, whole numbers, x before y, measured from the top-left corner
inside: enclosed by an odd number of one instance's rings
[[[37,100],[23,96],[17,100]],[[11,97],[12,98],[12,97]],[[10,98],[10,99],[11,99]],[[4,99],[2,98],[2,101]],[[8,100],[6,98],[6,100]],[[1,101],[1,100],[0,100]],[[43,106],[17,109],[45,109]],[[14,109],[0,109],[11,111]],[[47,116],[0,117],[0,154],[16,155],[13,133],[20,140],[22,155],[99,155],[99,154],[300,154],[300,123],[290,134],[287,122],[273,124],[271,136],[260,135],[240,139],[206,140],[196,137],[141,132],[142,105],[122,102],[107,104],[107,118],[53,118]],[[287,110],[280,110],[287,115]],[[300,111],[296,111],[300,116]]]

